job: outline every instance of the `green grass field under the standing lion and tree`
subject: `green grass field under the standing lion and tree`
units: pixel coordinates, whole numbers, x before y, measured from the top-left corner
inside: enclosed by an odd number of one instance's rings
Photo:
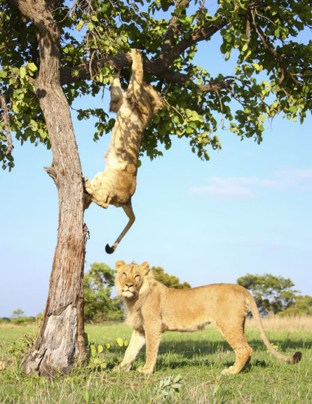
[[[271,321],[271,324],[270,324]],[[274,346],[287,355],[302,352],[302,360],[287,365],[266,351],[259,333],[248,322],[247,339],[254,350],[246,370],[220,376],[233,363],[234,354],[219,332],[208,327],[192,334],[165,333],[158,353],[156,371],[149,377],[135,372],[144,364],[144,348],[133,371],[114,373],[125,351],[111,344],[97,354],[99,363],[76,369],[67,377],[51,381],[27,377],[18,367],[27,349],[24,334],[32,327],[0,327],[0,403],[312,403],[312,318],[264,322]],[[129,340],[125,325],[87,326],[91,344],[111,343],[117,337]],[[94,362],[93,358],[93,362]],[[102,362],[101,362],[102,361]]]

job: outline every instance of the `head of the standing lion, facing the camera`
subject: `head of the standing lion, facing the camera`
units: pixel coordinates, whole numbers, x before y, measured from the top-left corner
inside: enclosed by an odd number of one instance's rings
[[[130,263],[126,265],[123,261],[116,262],[115,286],[118,297],[123,299],[135,299],[144,291],[149,289],[150,281],[154,280],[149,273],[149,263],[141,265]]]

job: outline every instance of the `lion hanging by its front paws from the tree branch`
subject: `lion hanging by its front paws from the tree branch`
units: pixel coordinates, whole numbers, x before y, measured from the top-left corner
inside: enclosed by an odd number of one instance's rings
[[[104,156],[106,168],[92,181],[83,178],[85,209],[91,202],[104,207],[109,204],[123,207],[129,221],[112,247],[111,254],[135,221],[131,197],[137,185],[137,162],[142,143],[142,134],[149,120],[163,107],[161,95],[143,81],[143,63],[140,51],[131,51],[132,75],[127,91],[122,91],[119,72],[111,85],[109,109],[117,113],[109,149]]]

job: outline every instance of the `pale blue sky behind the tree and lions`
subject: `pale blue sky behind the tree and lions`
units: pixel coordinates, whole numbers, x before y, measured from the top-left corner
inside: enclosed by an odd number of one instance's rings
[[[224,60],[217,54],[213,63],[198,63],[219,72]],[[108,102],[106,91],[97,107]],[[114,254],[104,246],[126,225],[123,209],[91,204],[86,211],[86,271],[95,261],[111,268],[119,259],[148,261],[194,287],[272,273],[312,295],[311,126],[311,116],[302,125],[276,117],[266,123],[261,145],[219,129],[222,150],[210,150],[209,162],[186,139],[173,140],[154,162],[143,158],[133,196],[136,221]],[[95,143],[92,120],[74,119],[74,128],[83,175],[93,178],[104,170],[110,136]],[[14,146],[15,168],[0,171],[0,317],[16,308],[26,315],[44,310],[57,237],[57,191],[43,170],[52,154],[42,145]]]

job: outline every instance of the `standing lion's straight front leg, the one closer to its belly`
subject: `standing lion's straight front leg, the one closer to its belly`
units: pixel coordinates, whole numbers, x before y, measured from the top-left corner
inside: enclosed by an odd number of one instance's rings
[[[147,340],[147,359],[143,367],[139,367],[138,371],[150,374],[154,372],[157,360],[158,346],[161,342],[161,325],[158,327],[155,322],[151,322],[151,327],[145,328],[145,338]]]

